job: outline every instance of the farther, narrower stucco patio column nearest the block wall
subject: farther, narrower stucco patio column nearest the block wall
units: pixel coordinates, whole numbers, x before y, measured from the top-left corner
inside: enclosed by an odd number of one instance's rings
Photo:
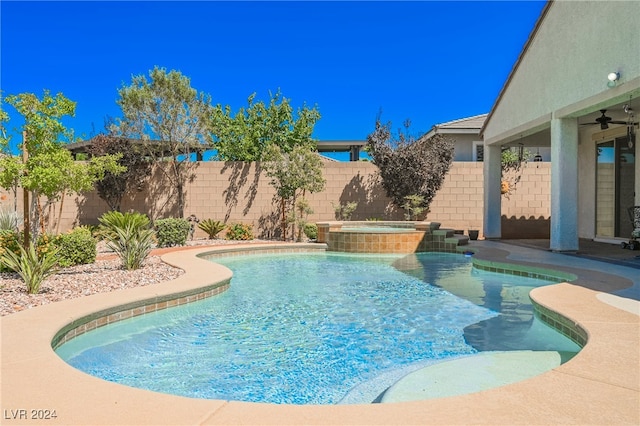
[[[484,146],[484,214],[483,234],[485,238],[502,237],[502,148],[499,145]]]

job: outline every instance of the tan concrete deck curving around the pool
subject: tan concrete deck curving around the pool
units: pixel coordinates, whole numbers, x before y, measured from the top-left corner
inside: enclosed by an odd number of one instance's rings
[[[276,245],[280,249],[288,246]],[[252,244],[246,250],[260,247],[273,245]],[[176,293],[188,301],[199,289],[231,278],[226,268],[196,257],[228,247],[196,248],[163,256],[166,262],[185,270],[176,280],[53,303],[0,318],[1,423],[640,424],[640,308],[637,301],[617,296],[637,294],[638,270],[496,241],[474,241],[467,247],[476,251],[475,257],[487,262],[545,267],[576,275],[573,283],[538,288],[531,297],[586,331],[588,342],[582,351],[542,375],[473,394],[331,406],[164,395],[89,376],[55,354],[52,341],[69,324],[79,325],[87,318],[97,321],[99,317],[131,315],[116,312],[133,312],[140,309],[140,304],[167,307]],[[54,410],[55,418],[41,419],[51,417]]]

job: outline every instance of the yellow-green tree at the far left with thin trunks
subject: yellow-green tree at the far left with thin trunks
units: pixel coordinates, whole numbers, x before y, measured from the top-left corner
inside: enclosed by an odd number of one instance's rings
[[[7,96],[6,102],[24,117],[24,134],[21,149],[28,153],[26,160],[10,156],[0,164],[0,185],[5,189],[22,187],[31,197],[31,240],[36,241],[38,225],[44,230],[43,211],[60,200],[62,210],[64,195],[89,191],[106,170],[117,173],[116,158],[106,156],[88,163],[73,161],[64,147],[64,139],[71,132],[62,123],[65,116],[75,114],[75,102],[62,93],[51,96],[45,90],[42,99],[33,93]],[[44,198],[44,206],[41,200]]]

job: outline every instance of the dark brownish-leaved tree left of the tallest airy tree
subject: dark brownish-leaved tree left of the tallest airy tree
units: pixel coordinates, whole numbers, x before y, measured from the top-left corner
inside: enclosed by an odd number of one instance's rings
[[[130,139],[98,135],[91,142],[89,152],[92,157],[120,154],[118,164],[125,168],[125,171],[120,174],[107,171],[104,177],[96,182],[98,196],[111,210],[120,211],[124,194],[139,191],[151,175],[151,163],[142,155],[140,147]]]

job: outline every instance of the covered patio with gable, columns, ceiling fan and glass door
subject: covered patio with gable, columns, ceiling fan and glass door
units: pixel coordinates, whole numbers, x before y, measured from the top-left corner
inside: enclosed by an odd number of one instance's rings
[[[501,150],[550,147],[549,248],[629,240],[640,205],[638,2],[545,6],[482,130],[484,236],[501,238]]]

